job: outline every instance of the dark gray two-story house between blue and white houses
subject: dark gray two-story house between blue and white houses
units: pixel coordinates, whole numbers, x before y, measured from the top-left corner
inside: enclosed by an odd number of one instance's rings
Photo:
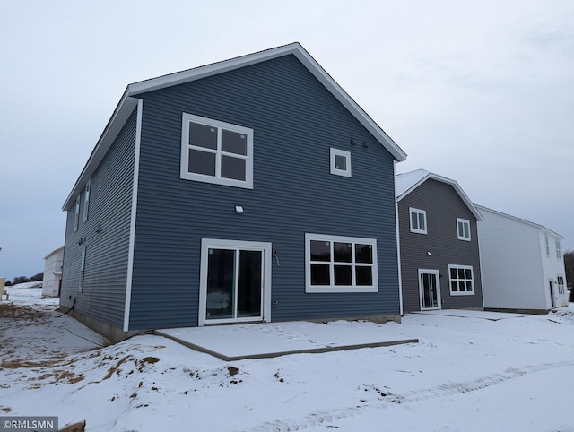
[[[403,311],[483,309],[476,222],[455,180],[424,169],[396,176]]]

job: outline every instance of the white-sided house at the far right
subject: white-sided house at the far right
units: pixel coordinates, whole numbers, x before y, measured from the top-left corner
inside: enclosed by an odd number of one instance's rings
[[[477,205],[484,307],[544,313],[568,307],[560,234]]]

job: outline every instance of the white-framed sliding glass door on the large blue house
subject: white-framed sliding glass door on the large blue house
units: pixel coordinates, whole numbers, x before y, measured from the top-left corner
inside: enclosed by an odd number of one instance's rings
[[[271,243],[202,240],[199,325],[270,321]]]

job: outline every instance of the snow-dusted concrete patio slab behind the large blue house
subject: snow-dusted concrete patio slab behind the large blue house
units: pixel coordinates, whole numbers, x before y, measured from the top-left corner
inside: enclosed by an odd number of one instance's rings
[[[347,321],[217,325],[155,333],[226,361],[418,342],[404,335],[400,324]]]

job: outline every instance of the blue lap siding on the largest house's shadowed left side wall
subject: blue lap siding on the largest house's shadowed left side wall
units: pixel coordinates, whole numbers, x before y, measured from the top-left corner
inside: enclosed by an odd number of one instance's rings
[[[91,176],[88,220],[83,221],[84,190],[75,232],[74,206],[67,212],[60,297],[62,306],[74,305],[77,312],[120,328],[126,303],[135,122],[134,111]],[[81,238],[83,243],[78,245]],[[79,292],[83,247],[86,249],[83,292]]]

